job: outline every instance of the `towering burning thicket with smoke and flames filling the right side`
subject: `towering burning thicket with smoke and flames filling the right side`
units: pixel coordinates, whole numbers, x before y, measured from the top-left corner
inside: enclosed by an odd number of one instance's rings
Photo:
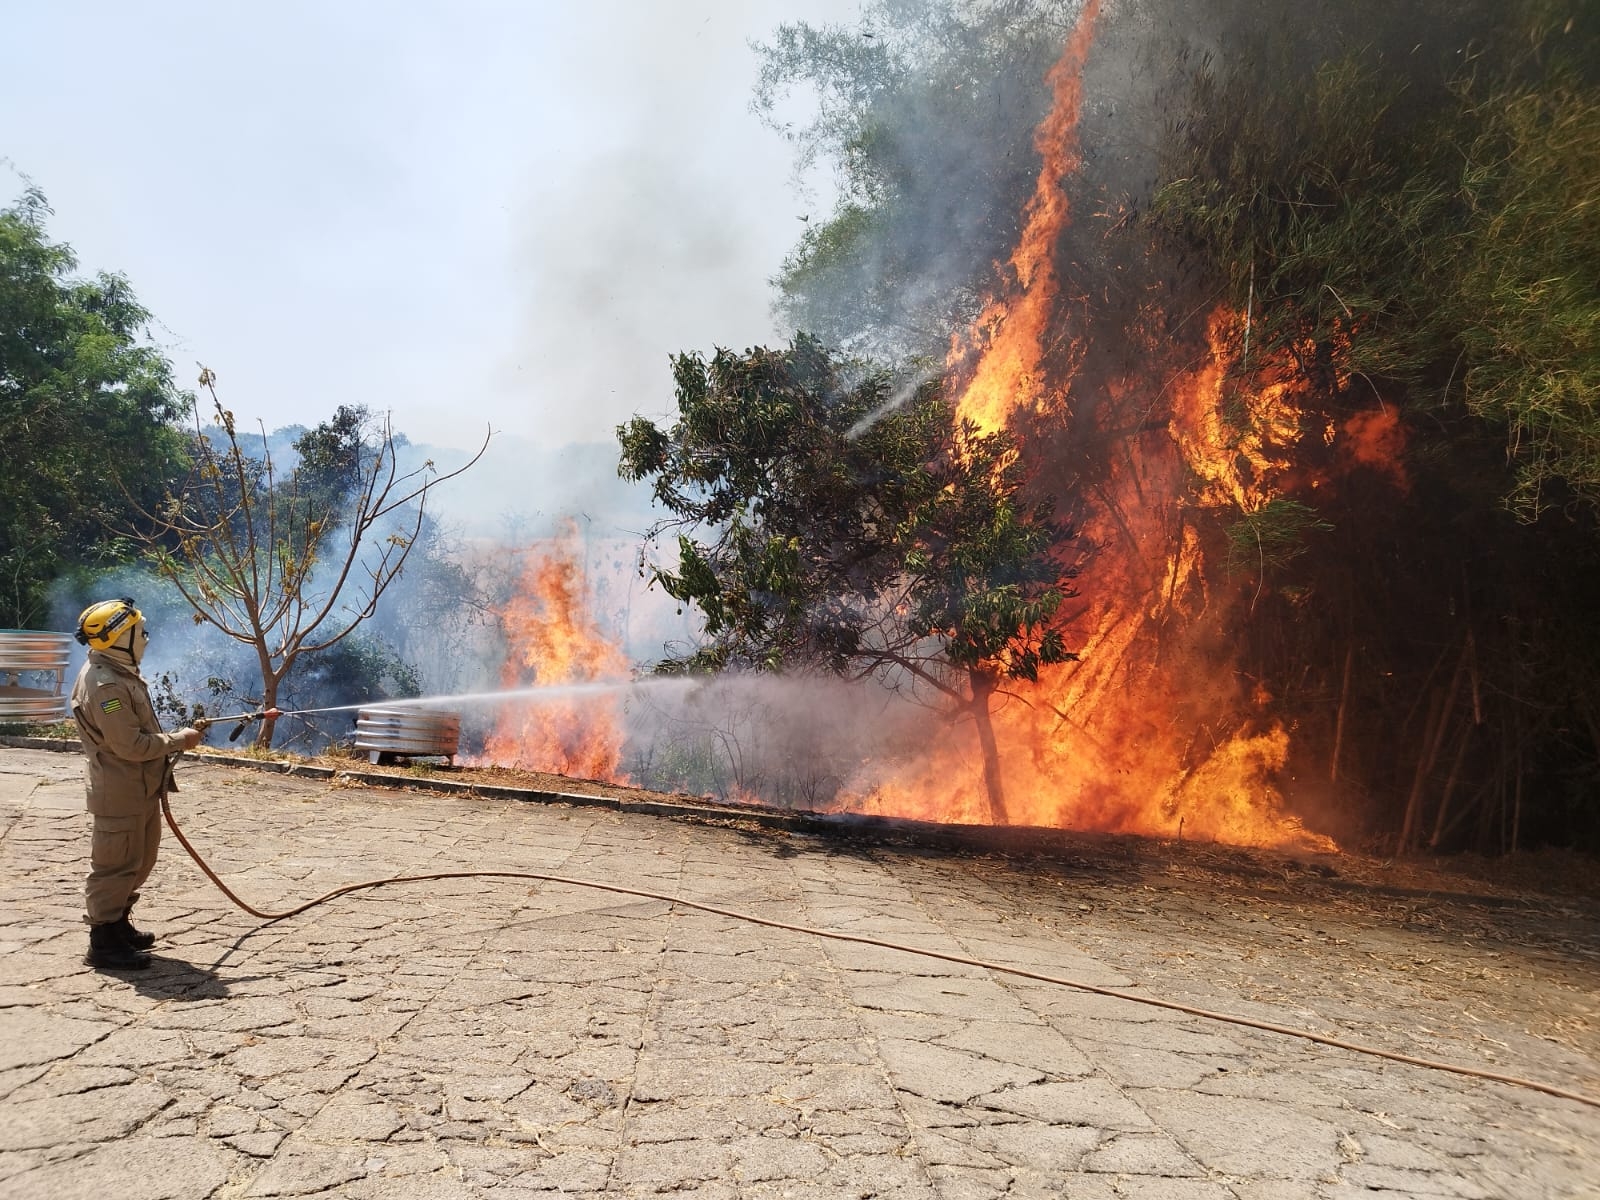
[[[914,8],[765,50],[843,181],[779,310],[950,346],[957,418],[1082,498],[1083,661],[997,712],[1014,810],[1594,845],[1595,6]],[[947,750],[882,811],[962,811]]]

